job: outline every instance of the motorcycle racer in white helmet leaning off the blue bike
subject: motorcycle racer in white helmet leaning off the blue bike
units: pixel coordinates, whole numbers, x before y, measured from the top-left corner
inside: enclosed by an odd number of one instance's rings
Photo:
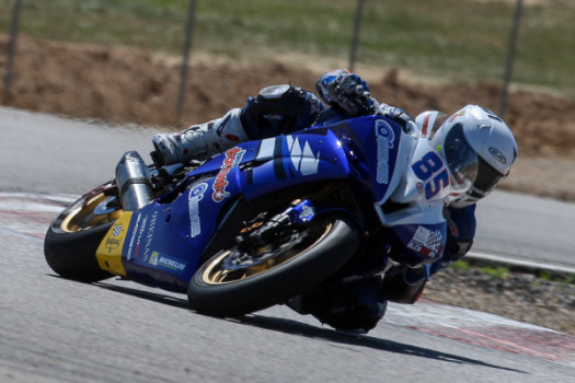
[[[432,275],[469,252],[475,235],[475,204],[508,175],[517,144],[507,125],[480,106],[468,105],[451,116],[428,111],[414,119],[401,108],[380,105],[364,80],[342,69],[323,74],[317,82],[317,91],[327,106],[301,88],[288,84],[264,88],[257,96],[249,97],[244,107],[233,108],[220,118],[179,134],[156,135],[154,161],[169,165],[204,160],[248,140],[375,113],[404,128],[417,129],[448,164],[449,182],[457,186],[456,193],[446,199],[444,216],[448,232],[440,259],[432,265],[409,267],[391,253],[389,257],[398,264],[383,278],[375,276],[338,285],[288,302],[297,312],[312,314],[336,329],[367,333],[383,316],[388,301],[416,302]]]

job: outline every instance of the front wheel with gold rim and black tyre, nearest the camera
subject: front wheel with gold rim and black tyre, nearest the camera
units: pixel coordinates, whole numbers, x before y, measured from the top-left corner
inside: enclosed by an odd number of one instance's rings
[[[359,233],[348,216],[333,213],[277,240],[255,251],[234,246],[208,259],[189,281],[192,309],[237,316],[285,302],[337,271],[356,252]]]

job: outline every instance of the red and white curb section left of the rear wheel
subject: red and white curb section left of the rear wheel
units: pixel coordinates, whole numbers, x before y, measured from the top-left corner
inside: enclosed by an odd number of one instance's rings
[[[0,232],[42,240],[50,222],[76,199],[73,195],[0,192]]]

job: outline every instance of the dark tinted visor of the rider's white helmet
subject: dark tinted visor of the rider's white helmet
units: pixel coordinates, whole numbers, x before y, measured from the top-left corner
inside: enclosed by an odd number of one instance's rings
[[[451,187],[456,193],[464,193],[478,178],[479,155],[463,135],[463,126],[451,127],[444,142],[447,165],[451,172]]]

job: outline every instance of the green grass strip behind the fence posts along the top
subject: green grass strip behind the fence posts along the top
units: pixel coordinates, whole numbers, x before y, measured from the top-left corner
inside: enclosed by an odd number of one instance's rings
[[[27,35],[179,55],[187,0],[24,0]],[[575,2],[524,5],[514,81],[575,95]],[[0,0],[0,33],[12,1]],[[347,66],[356,0],[198,0],[193,49],[230,57],[299,53]],[[501,81],[515,1],[365,1],[359,63]],[[327,68],[326,68],[327,69]]]

